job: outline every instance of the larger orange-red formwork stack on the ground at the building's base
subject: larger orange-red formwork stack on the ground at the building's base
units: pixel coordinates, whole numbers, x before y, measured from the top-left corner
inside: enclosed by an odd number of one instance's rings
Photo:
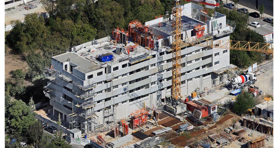
[[[148,122],[148,110],[142,109],[142,110],[135,110],[131,112],[131,126],[132,129],[142,127],[146,125]]]

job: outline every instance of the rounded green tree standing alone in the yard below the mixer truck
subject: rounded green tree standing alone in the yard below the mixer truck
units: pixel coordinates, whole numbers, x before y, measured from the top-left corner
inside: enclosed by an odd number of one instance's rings
[[[255,107],[253,94],[250,94],[248,91],[242,91],[241,94],[237,95],[233,111],[236,114],[244,114],[248,109],[252,109],[253,107]]]

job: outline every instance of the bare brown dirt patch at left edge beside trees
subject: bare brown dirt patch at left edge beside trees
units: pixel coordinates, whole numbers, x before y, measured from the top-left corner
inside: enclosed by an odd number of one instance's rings
[[[5,53],[5,81],[11,78],[12,71],[17,69],[22,69],[23,73],[27,73],[27,62],[20,55]],[[27,84],[27,82],[25,83]]]

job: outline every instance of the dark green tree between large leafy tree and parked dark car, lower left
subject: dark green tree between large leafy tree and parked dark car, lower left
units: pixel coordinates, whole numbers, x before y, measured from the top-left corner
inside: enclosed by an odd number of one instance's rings
[[[29,125],[25,135],[29,144],[38,143],[43,136],[43,127],[40,121],[36,121]]]

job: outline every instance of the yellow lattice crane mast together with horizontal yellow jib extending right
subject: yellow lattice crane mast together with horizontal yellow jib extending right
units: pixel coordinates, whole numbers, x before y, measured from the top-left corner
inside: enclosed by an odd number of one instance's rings
[[[222,49],[244,50],[273,54],[273,44],[256,43],[246,41],[214,41],[212,36],[201,38],[187,38],[185,42],[181,40],[181,14],[180,0],[173,0],[173,21],[172,21],[172,105],[177,108],[181,98],[181,48],[186,46],[203,46]],[[175,110],[175,114],[176,114]]]

